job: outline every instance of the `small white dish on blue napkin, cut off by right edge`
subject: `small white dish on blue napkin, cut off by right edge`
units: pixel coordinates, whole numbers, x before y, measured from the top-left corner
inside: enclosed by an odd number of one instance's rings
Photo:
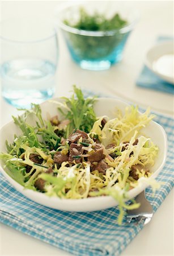
[[[163,80],[174,84],[173,41],[156,44],[146,53],[145,64]]]

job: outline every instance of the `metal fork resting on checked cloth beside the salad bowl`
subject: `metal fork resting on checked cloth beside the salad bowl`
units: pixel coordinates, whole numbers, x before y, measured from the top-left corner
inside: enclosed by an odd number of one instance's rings
[[[134,221],[136,223],[143,222],[143,225],[146,225],[151,221],[153,216],[153,209],[151,204],[146,199],[145,191],[142,191],[137,197],[136,202],[140,203],[140,207],[134,210],[127,210],[126,220],[128,223]]]

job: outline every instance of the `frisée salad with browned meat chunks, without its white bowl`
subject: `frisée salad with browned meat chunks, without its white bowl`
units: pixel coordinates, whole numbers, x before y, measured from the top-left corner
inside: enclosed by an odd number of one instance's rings
[[[130,189],[142,183],[159,188],[150,177],[158,147],[142,133],[154,115],[150,109],[139,114],[137,106],[129,106],[112,119],[96,117],[96,98],[84,98],[82,90],[73,88],[73,96],[56,102],[53,119],[44,119],[37,104],[13,117],[21,135],[14,135],[11,144],[6,141],[7,152],[0,159],[12,179],[48,196],[112,196],[118,203],[121,224],[125,209],[139,207],[134,200],[131,205],[125,203]]]

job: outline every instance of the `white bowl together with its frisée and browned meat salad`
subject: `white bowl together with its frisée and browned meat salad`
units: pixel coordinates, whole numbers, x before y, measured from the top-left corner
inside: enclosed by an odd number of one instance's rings
[[[132,199],[155,182],[167,139],[150,109],[108,98],[32,104],[1,130],[1,171],[23,195],[61,210],[138,208]],[[131,199],[131,205],[126,201]]]

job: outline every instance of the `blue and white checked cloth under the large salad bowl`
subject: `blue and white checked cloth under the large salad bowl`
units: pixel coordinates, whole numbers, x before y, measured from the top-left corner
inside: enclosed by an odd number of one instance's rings
[[[162,204],[173,187],[173,119],[156,115],[156,122],[162,125],[168,136],[167,161],[157,180],[162,187],[152,197],[146,189],[147,199],[154,212]],[[119,255],[143,228],[143,224],[116,222],[117,207],[97,212],[62,212],[37,204],[11,187],[1,178],[1,222],[74,255]]]

